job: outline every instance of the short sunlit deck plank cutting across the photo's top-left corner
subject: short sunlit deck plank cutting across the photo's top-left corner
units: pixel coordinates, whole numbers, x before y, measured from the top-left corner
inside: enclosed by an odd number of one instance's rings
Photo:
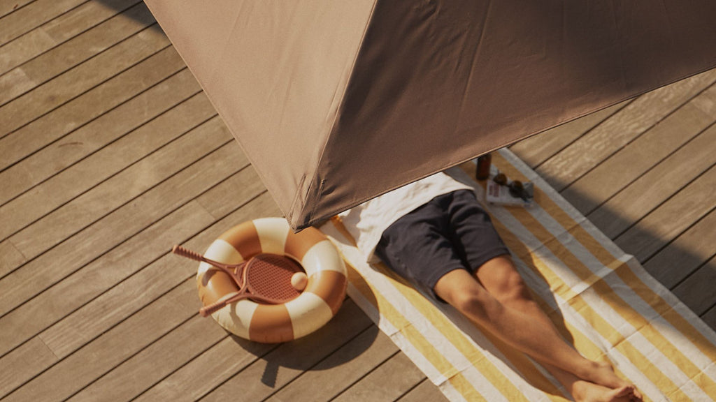
[[[0,18],[0,45],[32,31],[36,26],[54,19],[56,16],[73,9],[86,0],[37,0]],[[22,1],[16,1],[20,4]],[[26,1],[25,1],[26,2]],[[4,8],[7,8],[5,6]]]

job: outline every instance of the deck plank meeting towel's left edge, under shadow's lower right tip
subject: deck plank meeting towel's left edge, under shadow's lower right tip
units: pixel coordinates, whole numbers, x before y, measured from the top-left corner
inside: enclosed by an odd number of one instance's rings
[[[331,401],[398,351],[375,325],[274,393],[267,402]]]

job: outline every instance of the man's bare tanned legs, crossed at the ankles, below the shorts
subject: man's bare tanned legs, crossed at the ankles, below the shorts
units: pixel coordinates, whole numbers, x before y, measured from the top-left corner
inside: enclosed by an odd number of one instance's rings
[[[611,366],[589,361],[561,338],[507,256],[485,263],[476,278],[464,270],[448,273],[435,285],[435,293],[470,320],[546,366],[609,390],[634,388],[616,376]],[[634,395],[639,396],[637,391]]]

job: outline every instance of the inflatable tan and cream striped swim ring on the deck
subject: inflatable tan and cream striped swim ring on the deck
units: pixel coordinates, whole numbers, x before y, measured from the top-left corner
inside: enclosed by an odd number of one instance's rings
[[[283,255],[299,262],[308,276],[303,292],[281,305],[249,299],[230,303],[211,316],[229,332],[263,343],[300,338],[325,325],[338,312],[348,284],[343,259],[328,238],[314,227],[294,233],[284,218],[243,222],[214,240],[206,258],[237,264],[260,253]],[[238,290],[229,275],[200,263],[196,276],[199,298],[211,305]]]

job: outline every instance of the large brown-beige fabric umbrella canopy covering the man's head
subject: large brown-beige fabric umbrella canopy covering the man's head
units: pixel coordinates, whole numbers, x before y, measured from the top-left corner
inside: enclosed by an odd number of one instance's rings
[[[716,66],[716,1],[145,0],[291,226]]]

